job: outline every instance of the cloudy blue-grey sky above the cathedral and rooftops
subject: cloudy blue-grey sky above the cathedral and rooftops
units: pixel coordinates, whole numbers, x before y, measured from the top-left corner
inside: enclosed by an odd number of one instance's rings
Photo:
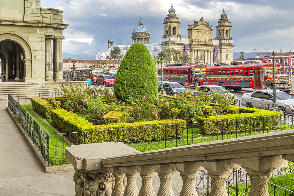
[[[63,52],[95,55],[98,49],[107,51],[109,38],[114,44],[131,44],[133,28],[143,25],[150,33],[150,42],[161,42],[163,22],[171,7],[168,0],[41,0],[41,7],[62,9],[64,30]],[[173,0],[180,18],[180,33],[188,35],[188,21],[216,23],[225,7],[232,25],[234,52],[275,50],[294,51],[293,0]]]

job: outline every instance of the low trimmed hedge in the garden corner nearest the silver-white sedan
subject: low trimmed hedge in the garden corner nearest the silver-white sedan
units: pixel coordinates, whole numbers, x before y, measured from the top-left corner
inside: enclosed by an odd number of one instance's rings
[[[201,133],[220,133],[227,131],[242,132],[245,130],[271,130],[279,124],[280,112],[267,111],[256,108],[239,107],[241,114],[227,114],[218,116],[203,116],[196,117],[194,126],[196,126]],[[256,118],[264,117],[264,118]]]

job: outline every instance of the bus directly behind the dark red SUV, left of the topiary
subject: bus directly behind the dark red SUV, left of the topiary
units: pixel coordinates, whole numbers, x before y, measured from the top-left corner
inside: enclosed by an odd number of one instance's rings
[[[84,80],[83,76],[89,77],[89,79],[91,79],[91,85],[96,84],[97,75],[100,74],[104,74],[103,67],[83,67],[75,69],[75,75],[77,80]]]

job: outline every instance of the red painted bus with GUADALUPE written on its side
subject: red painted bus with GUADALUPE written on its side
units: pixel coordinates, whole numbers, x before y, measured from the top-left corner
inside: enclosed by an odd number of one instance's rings
[[[291,79],[281,74],[281,71],[282,67],[275,64],[276,89],[289,94],[292,89]],[[243,87],[273,89],[273,63],[211,66],[206,68],[204,78],[208,85],[219,85],[237,92]]]

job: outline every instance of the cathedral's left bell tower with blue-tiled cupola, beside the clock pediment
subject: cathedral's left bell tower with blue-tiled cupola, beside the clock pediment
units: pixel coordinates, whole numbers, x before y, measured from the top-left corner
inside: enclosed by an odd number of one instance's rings
[[[180,18],[177,17],[175,12],[176,10],[173,9],[173,4],[171,4],[171,9],[168,10],[168,15],[163,23],[163,37],[180,36]]]

